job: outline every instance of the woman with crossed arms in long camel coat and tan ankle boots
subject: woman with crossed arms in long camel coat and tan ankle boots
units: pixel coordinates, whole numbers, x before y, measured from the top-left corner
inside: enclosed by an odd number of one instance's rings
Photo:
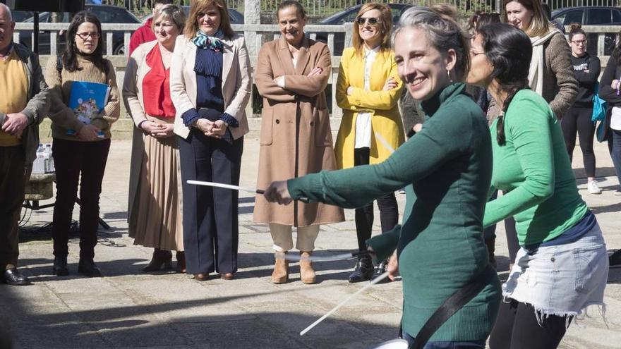
[[[263,45],[255,82],[263,96],[258,188],[274,180],[336,169],[325,87],[330,76],[330,51],[303,32],[306,14],[297,1],[278,6],[282,37]],[[291,250],[291,227],[297,228],[296,248],[308,257],[315,248],[320,224],[344,221],[342,209],[326,204],[268,203],[257,195],[254,220],[270,224],[277,252]],[[308,260],[301,261],[303,283],[315,282]],[[287,261],[276,259],[272,281],[289,279]]]

